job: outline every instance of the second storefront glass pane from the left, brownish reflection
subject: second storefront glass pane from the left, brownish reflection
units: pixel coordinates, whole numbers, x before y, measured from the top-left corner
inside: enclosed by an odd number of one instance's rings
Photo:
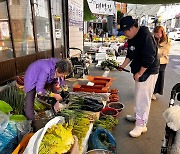
[[[9,10],[16,57],[35,53],[30,1],[9,0]]]

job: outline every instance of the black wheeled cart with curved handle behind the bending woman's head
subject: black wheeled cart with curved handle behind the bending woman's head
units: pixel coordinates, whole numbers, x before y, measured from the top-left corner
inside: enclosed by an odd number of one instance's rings
[[[69,48],[68,50],[69,52],[71,52],[71,50],[80,51],[80,55],[78,57],[77,56],[70,57],[71,63],[73,65],[73,72],[71,73],[70,77],[75,77],[75,75],[78,74],[79,75],[78,77],[83,78],[84,75],[88,75],[89,63],[86,60],[86,55],[84,54],[84,52],[79,48]]]

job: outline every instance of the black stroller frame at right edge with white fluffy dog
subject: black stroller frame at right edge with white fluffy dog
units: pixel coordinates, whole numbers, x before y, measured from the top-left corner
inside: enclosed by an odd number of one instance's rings
[[[180,83],[177,83],[172,88],[169,107],[174,106],[175,98],[177,98],[177,100],[180,101]],[[170,154],[171,153],[171,148],[175,141],[174,140],[175,136],[176,136],[176,131],[170,129],[166,124],[163,145],[161,146],[161,154]]]

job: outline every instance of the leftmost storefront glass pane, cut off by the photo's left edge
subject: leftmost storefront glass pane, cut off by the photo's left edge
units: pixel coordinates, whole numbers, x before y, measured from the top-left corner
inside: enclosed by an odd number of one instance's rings
[[[0,61],[13,58],[6,2],[0,2]]]

